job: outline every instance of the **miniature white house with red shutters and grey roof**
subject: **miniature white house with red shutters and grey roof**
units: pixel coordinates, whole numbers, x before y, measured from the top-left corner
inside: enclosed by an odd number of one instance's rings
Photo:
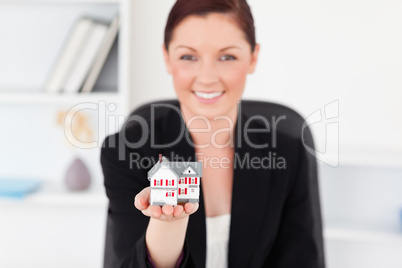
[[[159,155],[159,161],[148,171],[151,205],[197,203],[201,177],[201,162],[169,162]]]

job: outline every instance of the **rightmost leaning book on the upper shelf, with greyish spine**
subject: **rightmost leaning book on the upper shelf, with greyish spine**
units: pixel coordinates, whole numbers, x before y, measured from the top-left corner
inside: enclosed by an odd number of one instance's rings
[[[109,55],[113,43],[117,37],[119,26],[120,26],[120,19],[118,16],[115,16],[112,22],[110,23],[109,29],[106,33],[106,37],[89,71],[89,74],[84,82],[84,85],[82,86],[81,92],[90,92],[94,88],[96,80],[99,77],[102,67],[105,64],[107,56]]]

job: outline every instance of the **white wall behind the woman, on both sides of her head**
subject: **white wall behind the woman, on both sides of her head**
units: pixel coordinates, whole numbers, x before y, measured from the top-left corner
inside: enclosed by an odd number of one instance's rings
[[[248,2],[261,51],[244,98],[283,103],[305,117],[338,100],[340,163],[402,166],[402,3]],[[134,4],[132,107],[175,97],[161,48],[173,3]],[[312,128],[325,151],[325,123]]]

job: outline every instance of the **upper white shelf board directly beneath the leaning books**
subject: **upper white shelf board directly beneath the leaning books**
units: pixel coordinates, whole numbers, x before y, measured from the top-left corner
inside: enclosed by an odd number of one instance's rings
[[[111,93],[71,93],[48,94],[43,92],[0,92],[0,103],[32,103],[32,104],[63,104],[80,102],[119,102],[121,96],[116,92]]]

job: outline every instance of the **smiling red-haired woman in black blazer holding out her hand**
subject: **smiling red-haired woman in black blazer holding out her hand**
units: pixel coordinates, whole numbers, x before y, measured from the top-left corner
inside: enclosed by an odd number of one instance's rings
[[[259,52],[246,1],[178,0],[163,52],[178,101],[138,108],[103,144],[105,267],[324,267],[310,131],[287,107],[238,105]],[[149,205],[159,153],[203,162],[199,203]]]

